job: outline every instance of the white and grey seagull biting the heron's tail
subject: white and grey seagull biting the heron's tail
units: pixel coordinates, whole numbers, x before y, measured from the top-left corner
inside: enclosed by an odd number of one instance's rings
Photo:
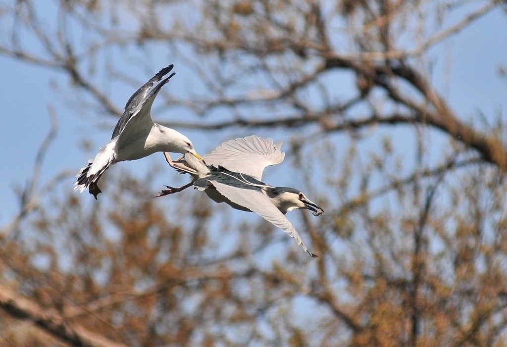
[[[97,181],[108,167],[118,162],[148,157],[155,152],[190,153],[202,160],[185,135],[152,121],[153,101],[175,73],[160,82],[150,93],[148,91],[156,82],[162,80],[173,66],[171,64],[161,69],[128,99],[111,141],[100,148],[95,159],[89,160],[76,175],[78,179],[74,182],[74,191],[83,192],[88,188],[97,200],[97,195],[102,192]]]

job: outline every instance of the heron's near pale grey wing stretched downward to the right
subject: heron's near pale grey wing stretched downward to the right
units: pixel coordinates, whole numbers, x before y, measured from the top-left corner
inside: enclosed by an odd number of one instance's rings
[[[275,226],[282,229],[289,236],[296,239],[298,245],[303,246],[305,252],[310,254],[312,257],[316,257],[312,254],[308,248],[306,248],[303,240],[299,236],[296,228],[292,223],[276,208],[275,205],[265,196],[260,190],[257,189],[242,189],[234,186],[230,186],[217,181],[209,181],[218,190],[220,194],[229,199],[235,204],[246,207],[252,212],[257,213],[268,222],[273,223]]]

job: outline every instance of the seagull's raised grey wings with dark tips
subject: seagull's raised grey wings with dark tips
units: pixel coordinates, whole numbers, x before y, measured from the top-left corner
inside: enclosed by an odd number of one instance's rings
[[[159,84],[147,97],[148,91],[153,87],[155,82],[160,81],[164,75],[166,75],[169,71],[171,71],[173,68],[173,65],[169,65],[167,67],[164,67],[162,70],[160,70],[155,76],[153,76],[147,83],[145,83],[141,88],[139,88],[130,99],[128,99],[126,105],[125,105],[125,111],[122,114],[122,117],[118,120],[118,123],[116,124],[115,130],[113,131],[113,135],[111,136],[111,139],[114,139],[121,133],[125,131],[125,128],[127,127],[127,124],[129,124],[132,119],[135,117],[137,123],[135,126],[138,126],[139,124],[146,124],[146,126],[153,125],[153,121],[151,119],[150,110],[152,107],[153,100],[155,99],[155,96],[157,96],[157,93],[160,91],[161,85],[167,83],[167,81],[163,82],[163,84]],[[171,75],[172,76],[172,75]],[[171,78],[171,76],[169,78]],[[157,90],[157,91],[155,91]],[[129,128],[134,128],[135,126],[133,124],[130,124]],[[145,126],[145,127],[146,127]]]

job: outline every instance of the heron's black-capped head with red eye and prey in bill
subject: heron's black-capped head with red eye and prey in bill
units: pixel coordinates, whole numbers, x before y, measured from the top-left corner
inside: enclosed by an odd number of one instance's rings
[[[268,190],[268,197],[271,199],[281,213],[295,209],[307,209],[313,211],[313,215],[318,216],[324,212],[314,202],[308,199],[303,192],[298,189],[288,187],[274,187]]]

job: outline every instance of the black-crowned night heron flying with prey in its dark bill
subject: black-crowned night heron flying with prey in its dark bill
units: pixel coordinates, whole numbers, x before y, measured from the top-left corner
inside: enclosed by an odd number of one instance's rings
[[[222,143],[203,160],[185,154],[185,160],[173,162],[164,153],[171,167],[179,173],[188,173],[192,181],[182,187],[166,186],[157,197],[174,194],[194,186],[204,191],[216,203],[226,203],[232,208],[255,212],[275,226],[281,228],[301,245],[312,257],[294,225],[285,217],[288,211],[308,209],[318,216],[324,211],[309,200],[302,191],[289,187],[275,187],[262,182],[264,169],[280,164],[285,153],[280,151],[282,141],[273,144],[273,139],[247,136]]]

